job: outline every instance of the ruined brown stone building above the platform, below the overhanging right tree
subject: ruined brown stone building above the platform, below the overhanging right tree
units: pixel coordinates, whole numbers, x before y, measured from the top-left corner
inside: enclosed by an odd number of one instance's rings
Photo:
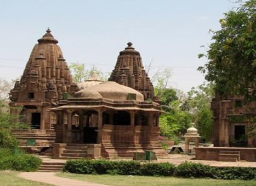
[[[251,120],[256,117],[255,104],[245,104],[241,96],[216,94],[212,100],[215,147],[256,147],[256,136],[253,135],[256,131]]]

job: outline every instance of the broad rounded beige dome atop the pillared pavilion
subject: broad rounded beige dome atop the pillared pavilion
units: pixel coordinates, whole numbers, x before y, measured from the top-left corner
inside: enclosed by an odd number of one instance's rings
[[[128,100],[129,94],[135,95],[136,101],[144,100],[143,94],[141,94],[140,92],[136,91],[133,88],[120,85],[113,81],[101,82],[99,85],[84,88],[81,91],[76,92],[75,97],[82,98],[82,96],[89,94],[89,91],[92,91],[93,93],[97,92],[101,95],[102,98],[112,100]],[[91,94],[92,93],[90,93],[89,96],[92,96]]]

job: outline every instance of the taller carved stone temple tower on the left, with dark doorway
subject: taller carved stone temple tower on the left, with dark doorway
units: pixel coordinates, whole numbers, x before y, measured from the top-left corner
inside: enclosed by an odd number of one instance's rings
[[[24,122],[35,129],[50,129],[54,116],[47,110],[60,99],[76,91],[67,63],[60,47],[48,28],[47,33],[33,47],[20,81],[10,91],[11,113],[25,116]]]

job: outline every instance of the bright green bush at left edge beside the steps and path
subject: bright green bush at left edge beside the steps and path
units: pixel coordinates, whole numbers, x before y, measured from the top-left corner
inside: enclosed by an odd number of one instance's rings
[[[0,148],[0,170],[36,171],[41,159],[20,149]]]

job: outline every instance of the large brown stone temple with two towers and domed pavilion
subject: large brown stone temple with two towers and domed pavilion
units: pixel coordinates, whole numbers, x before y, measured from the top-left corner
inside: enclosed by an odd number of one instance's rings
[[[22,108],[11,112],[25,116],[32,128],[13,130],[20,145],[54,158],[163,155],[161,105],[153,101],[152,83],[132,43],[120,52],[109,81],[94,74],[78,85],[57,43],[48,29],[10,93],[10,105]]]

